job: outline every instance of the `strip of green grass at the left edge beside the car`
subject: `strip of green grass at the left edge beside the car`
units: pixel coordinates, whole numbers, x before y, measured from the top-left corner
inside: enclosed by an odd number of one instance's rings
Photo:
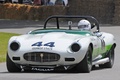
[[[0,63],[6,61],[7,45],[10,37],[19,34],[0,32]]]

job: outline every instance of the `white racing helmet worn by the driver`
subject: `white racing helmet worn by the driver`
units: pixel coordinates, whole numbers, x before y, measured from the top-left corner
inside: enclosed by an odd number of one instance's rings
[[[80,20],[78,23],[78,29],[90,31],[91,24],[88,20]]]

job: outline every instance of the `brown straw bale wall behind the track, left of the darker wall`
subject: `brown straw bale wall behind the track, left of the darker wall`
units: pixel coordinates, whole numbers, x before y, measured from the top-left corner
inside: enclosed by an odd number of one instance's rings
[[[21,20],[43,20],[51,15],[64,15],[64,6],[32,6],[25,4],[4,4],[0,5],[0,18],[21,19]]]

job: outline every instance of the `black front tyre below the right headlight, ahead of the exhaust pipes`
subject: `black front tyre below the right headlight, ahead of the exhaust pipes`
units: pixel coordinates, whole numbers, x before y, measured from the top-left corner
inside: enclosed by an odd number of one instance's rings
[[[92,48],[91,46],[88,47],[87,53],[84,57],[84,59],[82,60],[82,62],[80,62],[77,67],[76,67],[77,71],[79,72],[84,72],[84,73],[89,73],[92,69]]]

